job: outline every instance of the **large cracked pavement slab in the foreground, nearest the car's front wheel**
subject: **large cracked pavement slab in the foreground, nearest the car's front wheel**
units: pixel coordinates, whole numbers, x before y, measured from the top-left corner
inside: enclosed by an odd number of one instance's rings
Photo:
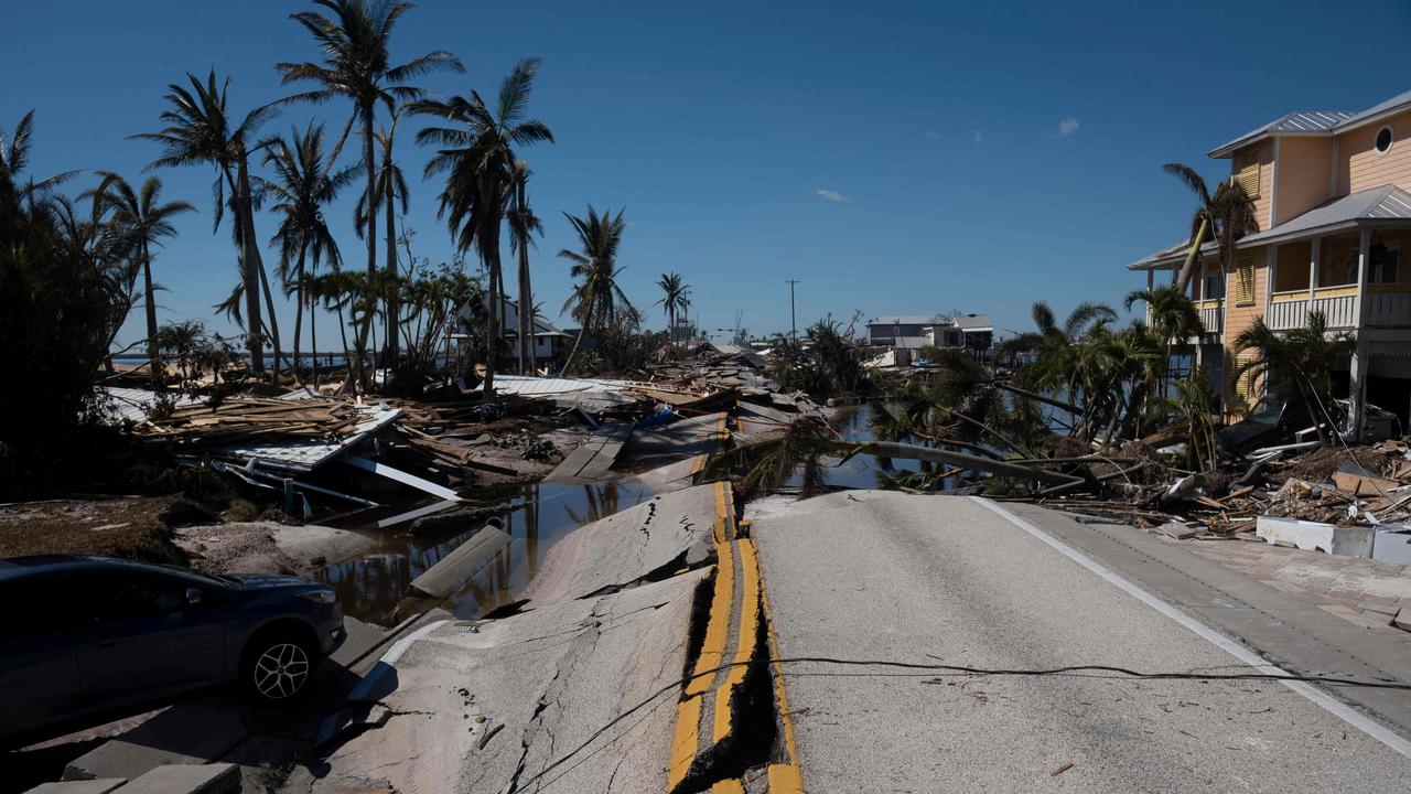
[[[691,571],[436,627],[396,660],[394,687],[380,701],[385,725],[329,756],[329,773],[312,791],[368,783],[422,794],[538,791],[552,783],[562,791],[663,791],[670,684],[684,670],[696,591],[707,576]]]

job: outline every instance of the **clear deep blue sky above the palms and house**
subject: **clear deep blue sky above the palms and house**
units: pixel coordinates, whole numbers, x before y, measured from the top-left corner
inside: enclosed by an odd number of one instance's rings
[[[126,136],[159,126],[165,85],[214,66],[244,112],[284,96],[277,61],[315,59],[288,14],[305,3],[0,1],[0,127],[37,110],[32,170],[137,178],[157,154]],[[543,59],[532,113],[557,144],[522,151],[546,235],[533,257],[552,316],[570,290],[562,211],[626,206],[625,290],[660,326],[653,281],[694,288],[707,328],[744,312],[752,332],[855,309],[991,314],[1029,328],[1119,304],[1123,266],[1187,230],[1192,199],[1158,171],[1228,174],[1205,151],[1295,109],[1357,110],[1411,88],[1397,41],[1411,6],[1321,3],[452,3],[408,13],[394,58],[450,49],[464,75],[440,93],[490,93],[526,55]],[[1380,44],[1379,44],[1380,40]],[[344,103],[316,113],[336,134]],[[428,153],[401,134],[409,175]],[[229,232],[212,235],[205,168],[159,172],[196,203],[155,263],[161,316],[212,318],[236,280]],[[90,178],[76,181],[87,186]],[[452,256],[439,185],[415,179],[415,253]],[[330,211],[357,263],[351,192]],[[274,219],[257,219],[260,235]],[[380,251],[381,254],[381,251]],[[508,257],[508,253],[507,253]],[[267,253],[267,261],[274,256]],[[141,335],[140,312],[123,339]],[[320,319],[326,333],[332,325]],[[288,336],[292,309],[281,325]],[[332,339],[332,335],[323,336]],[[286,345],[288,346],[288,345]]]

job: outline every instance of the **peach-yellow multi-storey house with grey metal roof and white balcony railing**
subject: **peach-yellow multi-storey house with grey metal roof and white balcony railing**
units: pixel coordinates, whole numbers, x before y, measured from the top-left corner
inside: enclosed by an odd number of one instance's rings
[[[1362,112],[1297,112],[1209,153],[1254,199],[1260,230],[1239,240],[1225,271],[1213,243],[1189,281],[1206,335],[1188,343],[1226,398],[1257,398],[1235,383],[1235,339],[1256,318],[1276,331],[1311,311],[1356,339],[1335,362],[1362,427],[1366,403],[1411,414],[1411,92]],[[1175,280],[1188,244],[1127,266],[1147,285]]]

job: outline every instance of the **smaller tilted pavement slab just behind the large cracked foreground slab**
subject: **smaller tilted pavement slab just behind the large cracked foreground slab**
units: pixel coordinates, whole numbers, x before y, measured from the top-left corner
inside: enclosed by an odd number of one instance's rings
[[[693,545],[710,544],[725,487],[710,483],[659,493],[569,533],[545,555],[522,598],[533,606],[559,603],[674,572]]]

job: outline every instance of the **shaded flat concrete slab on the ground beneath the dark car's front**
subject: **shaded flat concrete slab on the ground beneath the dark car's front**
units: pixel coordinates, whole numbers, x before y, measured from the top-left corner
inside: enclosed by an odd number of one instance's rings
[[[63,780],[134,780],[159,766],[205,764],[248,736],[236,699],[213,692],[168,708],[73,759],[63,769]]]

